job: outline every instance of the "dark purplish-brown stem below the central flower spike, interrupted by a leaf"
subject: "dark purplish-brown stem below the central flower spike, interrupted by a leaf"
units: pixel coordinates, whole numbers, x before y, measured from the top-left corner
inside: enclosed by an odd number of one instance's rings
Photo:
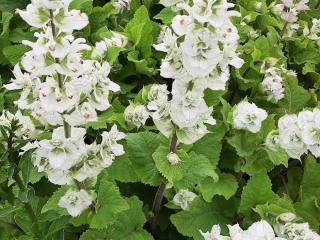
[[[177,134],[173,134],[171,138],[171,143],[169,146],[169,152],[175,152],[177,149],[178,138]],[[166,189],[166,183],[162,182],[158,187],[156,195],[154,196],[153,204],[152,204],[152,217],[149,220],[150,230],[153,236],[155,236],[157,231],[157,218],[161,209],[163,194]]]

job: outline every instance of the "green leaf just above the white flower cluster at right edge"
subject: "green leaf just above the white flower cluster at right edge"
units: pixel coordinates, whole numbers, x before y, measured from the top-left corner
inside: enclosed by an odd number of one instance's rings
[[[310,100],[310,93],[298,85],[296,77],[288,76],[284,82],[285,97],[279,102],[279,106],[289,113],[302,110]]]

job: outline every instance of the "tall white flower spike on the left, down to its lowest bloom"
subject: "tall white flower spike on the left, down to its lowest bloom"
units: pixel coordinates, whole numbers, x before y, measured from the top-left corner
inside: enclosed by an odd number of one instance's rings
[[[120,86],[109,79],[108,62],[84,58],[83,52],[91,47],[85,39],[74,38],[72,32],[83,29],[88,16],[79,10],[69,10],[70,2],[32,0],[25,11],[17,10],[27,23],[42,31],[35,34],[36,42],[23,41],[31,48],[21,60],[26,72],[17,64],[13,71],[15,78],[5,87],[21,90],[15,102],[21,112],[31,113],[32,119],[42,125],[56,126],[51,139],[28,144],[24,150],[35,149],[33,163],[39,172],[48,175],[50,182],[77,188],[68,191],[59,205],[67,208],[70,215],[78,216],[93,201],[84,187],[79,186],[109,167],[116,156],[124,154],[117,141],[125,135],[114,125],[101,134],[101,143],[85,143],[86,130],[79,126],[97,121],[97,111],[111,106],[109,95],[118,92]],[[117,42],[118,38],[109,43]],[[17,117],[32,135],[32,119],[23,117],[21,112]]]

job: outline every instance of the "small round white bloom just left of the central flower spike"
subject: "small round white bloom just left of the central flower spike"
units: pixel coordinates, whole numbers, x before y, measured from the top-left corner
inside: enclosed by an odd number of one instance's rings
[[[144,105],[134,106],[130,104],[124,111],[124,118],[127,122],[130,122],[139,128],[145,125],[149,118],[149,112]]]

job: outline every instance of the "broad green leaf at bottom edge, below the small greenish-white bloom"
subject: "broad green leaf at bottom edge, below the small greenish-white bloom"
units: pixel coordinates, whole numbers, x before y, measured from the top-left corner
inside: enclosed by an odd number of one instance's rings
[[[184,236],[203,240],[199,230],[206,232],[215,224],[232,223],[236,207],[233,200],[226,201],[216,197],[211,203],[207,203],[198,197],[190,203],[187,210],[171,215],[170,220]]]

